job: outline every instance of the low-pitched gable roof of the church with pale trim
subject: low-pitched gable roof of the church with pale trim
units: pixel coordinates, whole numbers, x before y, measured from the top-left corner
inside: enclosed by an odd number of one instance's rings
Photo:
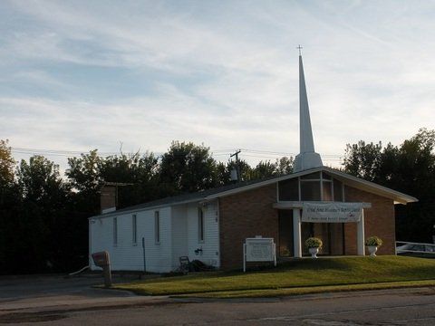
[[[363,191],[367,191],[382,197],[391,198],[394,200],[395,204],[408,204],[412,202],[418,201],[416,197],[411,197],[409,195],[403,194],[399,191],[392,190],[388,187],[383,187],[378,184],[375,184],[373,182],[364,180],[360,177],[353,177],[347,173],[343,173],[339,170],[333,169],[333,168],[327,168],[327,167],[321,167],[321,168],[311,168],[304,171],[291,173],[285,176],[281,177],[268,177],[258,180],[251,180],[251,181],[245,181],[240,182],[233,185],[227,185],[223,187],[216,187],[211,188],[208,190],[198,191],[195,193],[189,193],[189,194],[182,194],[178,196],[173,197],[165,197],[158,200],[153,200],[148,203],[143,203],[135,206],[129,206],[125,208],[121,208],[119,210],[105,213],[102,215],[99,215],[100,217],[106,217],[106,216],[115,216],[120,215],[124,213],[132,213],[135,211],[140,211],[143,209],[150,209],[150,208],[159,208],[162,206],[174,206],[174,205],[181,205],[181,204],[189,204],[194,203],[198,201],[208,201],[212,199],[216,199],[218,197],[226,197],[230,195],[234,195],[240,192],[253,190],[258,187],[265,187],[271,184],[274,184],[279,181],[284,181],[287,179],[295,178],[295,177],[301,177],[307,174],[311,174],[318,171],[325,171],[329,174],[331,174],[333,177],[337,178],[338,180],[342,181],[344,184],[355,187],[357,189],[361,189]],[[92,216],[96,217],[96,216]],[[90,218],[92,218],[90,217]]]

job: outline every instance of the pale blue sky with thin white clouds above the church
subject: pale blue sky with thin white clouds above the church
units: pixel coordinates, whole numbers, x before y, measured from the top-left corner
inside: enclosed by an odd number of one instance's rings
[[[435,1],[0,2],[0,139],[17,159],[295,155],[298,44],[315,149],[435,129]]]

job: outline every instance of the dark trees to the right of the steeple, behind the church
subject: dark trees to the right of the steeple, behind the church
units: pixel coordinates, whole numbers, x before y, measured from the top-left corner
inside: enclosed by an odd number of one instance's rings
[[[347,173],[417,197],[418,203],[396,206],[396,234],[402,241],[432,242],[435,217],[435,130],[420,129],[401,146],[347,145]]]

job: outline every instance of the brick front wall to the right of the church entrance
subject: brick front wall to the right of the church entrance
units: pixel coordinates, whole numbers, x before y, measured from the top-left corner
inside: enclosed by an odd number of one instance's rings
[[[364,209],[364,236],[367,239],[377,235],[383,240],[377,254],[394,254],[396,231],[393,200],[347,186],[344,194],[346,202],[372,203],[372,208]],[[356,223],[344,224],[344,244],[345,254],[356,254]]]

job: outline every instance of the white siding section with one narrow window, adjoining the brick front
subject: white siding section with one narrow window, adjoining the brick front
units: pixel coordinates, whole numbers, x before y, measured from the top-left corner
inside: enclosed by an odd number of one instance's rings
[[[188,241],[190,261],[198,259],[205,264],[220,266],[218,201],[204,206],[204,241],[198,241],[198,204],[188,206]],[[202,248],[202,254],[195,250]]]

